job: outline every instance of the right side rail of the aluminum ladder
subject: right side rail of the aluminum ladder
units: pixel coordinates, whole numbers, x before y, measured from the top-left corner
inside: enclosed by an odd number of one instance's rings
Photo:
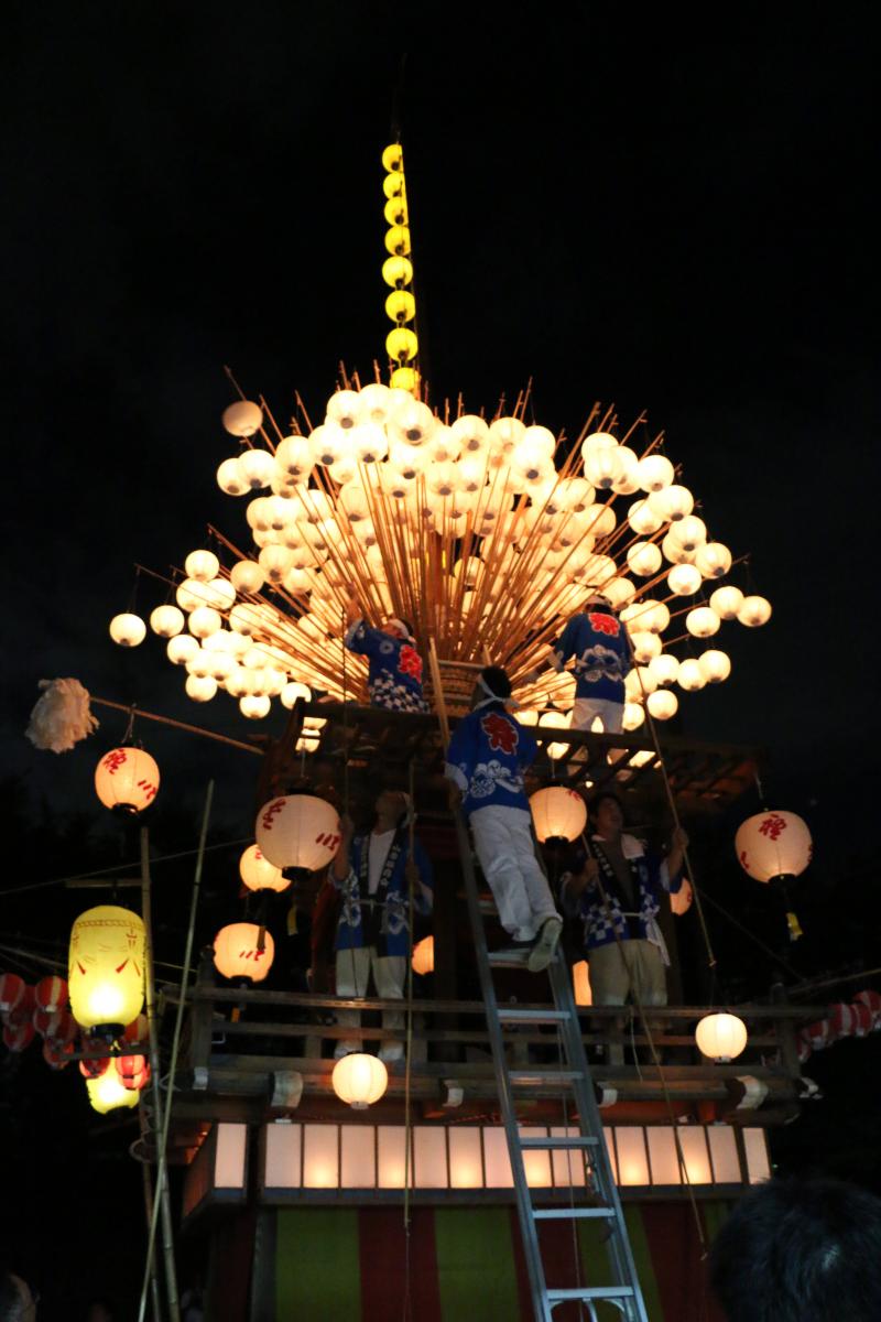
[[[598,1140],[593,1155],[594,1183],[598,1185],[598,1192],[604,1206],[613,1214],[609,1220],[610,1225],[614,1227],[613,1233],[610,1233],[606,1239],[606,1252],[616,1277],[616,1284],[629,1285],[633,1289],[633,1297],[631,1300],[627,1300],[627,1310],[625,1315],[631,1318],[633,1322],[647,1322],[649,1315],[642,1297],[637,1264],[630,1247],[627,1223],[623,1218],[618,1186],[616,1185],[612,1171],[609,1150],[605,1142],[602,1116],[600,1114],[600,1107],[597,1105],[590,1068],[588,1066],[584,1042],[581,1039],[579,1011],[572,993],[569,970],[559,951],[551,961],[548,977],[551,981],[551,990],[553,993],[555,1009],[567,1013],[567,1018],[561,1019],[559,1026],[567,1063],[581,1076],[573,1084],[575,1103],[579,1109],[579,1130],[584,1136],[593,1134]]]

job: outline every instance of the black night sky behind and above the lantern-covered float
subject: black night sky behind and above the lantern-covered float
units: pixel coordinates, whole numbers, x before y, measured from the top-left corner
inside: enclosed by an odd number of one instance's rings
[[[235,452],[223,364],[281,420],[295,389],[321,411],[339,358],[362,377],[382,358],[396,102],[432,399],[493,411],[532,377],[535,420],[569,435],[594,399],[625,426],[647,411],[774,605],[762,631],[725,627],[732,678],[683,702],[682,732],[765,747],[769,796],[808,818],[827,874],[870,857],[868,13],[9,8],[1,754],[32,820],[100,812],[92,768],[125,723],[99,713],[96,740],[36,752],[40,678],[255,728],[225,697],[184,699],[159,640],[123,653],[107,624],[135,562],[166,572],[207,522],[244,542],[214,481]],[[141,613],[162,599],[141,579]],[[281,724],[273,705],[259,728]],[[251,760],[139,732],[182,816],[215,773],[218,825],[247,834]]]

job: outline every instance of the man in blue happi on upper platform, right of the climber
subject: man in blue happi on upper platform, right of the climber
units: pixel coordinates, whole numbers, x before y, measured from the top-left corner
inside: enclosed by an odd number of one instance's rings
[[[623,681],[633,661],[625,627],[601,592],[592,592],[568,621],[553,644],[551,665],[563,670],[569,657],[575,657],[572,730],[590,730],[598,717],[606,734],[621,734]]]

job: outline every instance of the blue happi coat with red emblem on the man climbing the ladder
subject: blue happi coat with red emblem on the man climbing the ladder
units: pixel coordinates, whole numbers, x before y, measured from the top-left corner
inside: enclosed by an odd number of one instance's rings
[[[501,701],[482,702],[457,724],[446,751],[445,775],[462,791],[466,817],[479,808],[530,810],[523,773],[538,744]]]

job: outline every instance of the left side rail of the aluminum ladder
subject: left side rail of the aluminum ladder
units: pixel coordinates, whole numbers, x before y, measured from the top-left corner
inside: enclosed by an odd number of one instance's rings
[[[523,1237],[523,1256],[526,1257],[527,1274],[530,1280],[532,1313],[536,1322],[552,1322],[551,1307],[548,1305],[548,1289],[544,1280],[544,1264],[542,1263],[542,1251],[539,1247],[538,1229],[532,1211],[532,1198],[530,1195],[530,1186],[526,1178],[523,1149],[520,1147],[520,1132],[514,1109],[512,1084],[505,1056],[505,1036],[502,1034],[502,1022],[498,1017],[498,1001],[495,997],[495,985],[493,982],[493,969],[490,966],[489,952],[486,949],[486,933],[483,931],[483,919],[479,908],[477,878],[474,876],[474,867],[472,863],[472,846],[468,838],[465,821],[462,820],[462,813],[458,808],[453,809],[453,817],[456,820],[460,861],[465,875],[468,912],[472,923],[472,932],[474,935],[477,972],[481,982],[481,994],[486,1006],[486,1027],[490,1039],[490,1048],[493,1051],[495,1085],[499,1093],[505,1137],[507,1140],[511,1174],[514,1177],[514,1194],[516,1198],[516,1210],[520,1222],[520,1235]]]

